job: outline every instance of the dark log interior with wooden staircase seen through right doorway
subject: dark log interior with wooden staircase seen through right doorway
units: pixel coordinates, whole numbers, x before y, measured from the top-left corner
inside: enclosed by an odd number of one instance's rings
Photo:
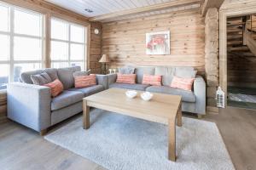
[[[227,50],[228,86],[251,87],[256,84],[255,15],[227,20]]]

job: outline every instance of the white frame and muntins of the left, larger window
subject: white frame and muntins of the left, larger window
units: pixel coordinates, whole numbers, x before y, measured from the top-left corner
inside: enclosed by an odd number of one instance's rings
[[[27,8],[20,8],[15,5],[11,5],[9,3],[0,3],[1,6],[9,8],[9,16],[8,16],[8,31],[0,31],[0,35],[5,35],[9,37],[9,58],[7,60],[0,60],[0,64],[9,65],[9,82],[15,82],[15,65],[16,64],[39,64],[40,68],[44,68],[44,48],[45,48],[45,20],[44,14],[38,13],[37,11],[33,11]],[[40,36],[32,36],[26,34],[15,33],[15,10],[19,10],[21,12],[27,14],[35,14],[40,16]],[[15,37],[26,37],[33,38],[40,41],[41,44],[41,58],[38,60],[15,60]],[[8,82],[8,83],[9,83]]]

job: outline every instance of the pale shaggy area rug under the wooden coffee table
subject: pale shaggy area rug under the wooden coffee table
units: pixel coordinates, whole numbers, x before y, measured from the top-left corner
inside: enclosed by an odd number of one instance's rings
[[[213,122],[183,117],[176,162],[167,159],[166,125],[102,110],[90,124],[84,130],[79,116],[44,138],[109,170],[235,169]]]

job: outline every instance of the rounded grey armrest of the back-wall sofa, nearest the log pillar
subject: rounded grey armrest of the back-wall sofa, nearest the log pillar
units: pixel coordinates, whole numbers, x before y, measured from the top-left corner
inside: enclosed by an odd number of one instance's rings
[[[206,114],[206,100],[207,100],[206,82],[203,77],[196,76],[194,82],[195,94],[195,112],[197,114]]]

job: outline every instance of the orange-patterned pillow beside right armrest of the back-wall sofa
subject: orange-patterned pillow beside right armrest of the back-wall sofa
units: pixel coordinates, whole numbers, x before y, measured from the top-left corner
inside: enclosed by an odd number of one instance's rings
[[[173,77],[171,87],[191,91],[194,81],[195,78]]]

